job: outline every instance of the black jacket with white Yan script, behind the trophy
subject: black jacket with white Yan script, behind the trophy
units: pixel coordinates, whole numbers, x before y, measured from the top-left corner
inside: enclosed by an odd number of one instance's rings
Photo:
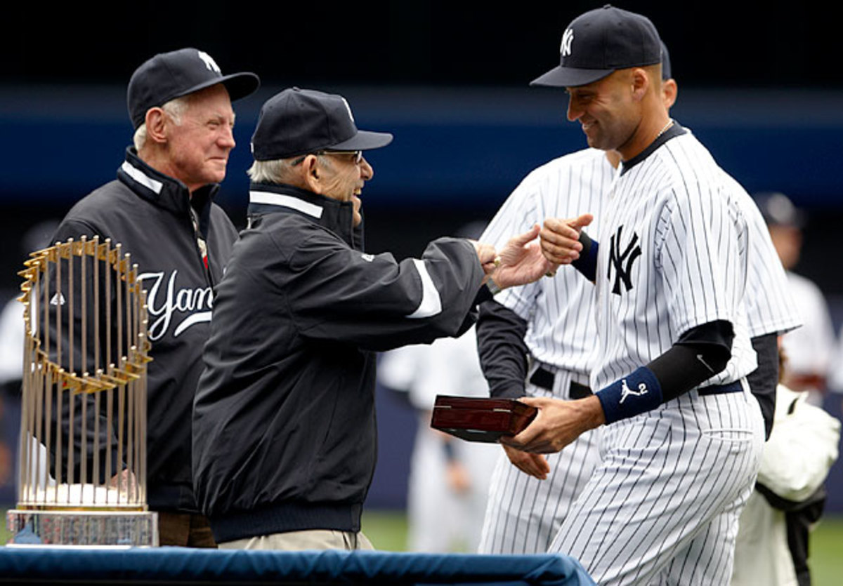
[[[217,189],[216,184],[197,189],[191,200],[184,184],[148,167],[129,148],[117,179],[78,201],[52,240],[86,235],[120,242],[122,252],[131,253],[132,263],[138,265],[148,291],[153,361],[148,365],[147,478],[152,509],[196,511],[191,482],[193,395],[210,332],[212,288],[223,276],[237,237],[228,216],[212,203]],[[191,205],[207,242],[207,269]],[[76,315],[74,321],[79,312]]]

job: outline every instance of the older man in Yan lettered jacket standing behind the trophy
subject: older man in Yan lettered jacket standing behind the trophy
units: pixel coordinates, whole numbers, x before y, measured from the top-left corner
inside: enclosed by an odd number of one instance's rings
[[[158,512],[160,545],[215,546],[193,496],[190,417],[201,349],[210,331],[212,287],[222,278],[237,237],[228,216],[213,203],[234,148],[231,102],[255,92],[259,83],[254,73],[223,75],[211,56],[193,48],[142,63],[127,92],[134,147],[126,149],[117,178],[79,200],[53,237],[53,242],[83,236],[120,242],[148,290],[153,357],[148,367],[148,501]],[[59,332],[67,336],[67,326]],[[89,336],[88,344],[93,339]],[[89,365],[92,372],[95,368]],[[54,445],[48,448],[55,450]],[[77,466],[81,460],[76,459]]]

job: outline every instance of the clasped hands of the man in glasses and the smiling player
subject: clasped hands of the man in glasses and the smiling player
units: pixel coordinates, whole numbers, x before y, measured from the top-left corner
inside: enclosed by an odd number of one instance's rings
[[[553,276],[560,264],[571,264],[579,258],[583,249],[580,232],[592,220],[590,214],[570,220],[549,218],[545,226],[535,224],[524,234],[510,238],[499,253],[491,244],[470,241],[486,273],[483,283],[491,280],[497,289],[506,289],[532,283],[545,274]]]

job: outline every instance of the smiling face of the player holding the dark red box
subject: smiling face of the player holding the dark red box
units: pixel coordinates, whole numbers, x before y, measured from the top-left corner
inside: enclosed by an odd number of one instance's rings
[[[589,147],[617,150],[635,134],[640,117],[630,75],[621,69],[588,85],[566,88],[568,120],[582,125]]]

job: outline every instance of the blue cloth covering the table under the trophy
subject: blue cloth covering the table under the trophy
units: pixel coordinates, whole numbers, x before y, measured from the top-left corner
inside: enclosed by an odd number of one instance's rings
[[[594,584],[571,557],[0,547],[0,582]]]

